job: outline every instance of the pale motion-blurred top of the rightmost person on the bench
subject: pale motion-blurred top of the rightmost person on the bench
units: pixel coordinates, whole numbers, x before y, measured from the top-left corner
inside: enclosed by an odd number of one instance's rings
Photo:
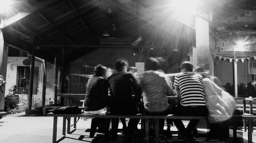
[[[209,110],[209,122],[223,122],[231,118],[236,109],[234,98],[209,78],[203,79],[203,85],[206,106]]]

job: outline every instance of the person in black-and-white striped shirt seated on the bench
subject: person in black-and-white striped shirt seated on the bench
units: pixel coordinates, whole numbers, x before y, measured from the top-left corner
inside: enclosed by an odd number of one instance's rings
[[[193,64],[185,61],[181,64],[181,72],[175,76],[174,86],[180,100],[174,109],[176,116],[206,116],[207,108],[203,89],[202,75],[193,72]],[[175,126],[183,139],[195,142],[191,132],[199,120],[190,120],[187,127],[181,120],[174,120]]]

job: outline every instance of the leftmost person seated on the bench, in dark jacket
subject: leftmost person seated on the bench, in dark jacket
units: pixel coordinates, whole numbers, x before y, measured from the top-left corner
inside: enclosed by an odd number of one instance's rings
[[[83,102],[84,111],[87,113],[101,114],[108,111],[106,106],[108,103],[108,88],[109,83],[105,78],[106,67],[97,65],[94,68],[94,75],[88,80],[86,99]],[[98,132],[109,136],[109,119],[96,118]]]

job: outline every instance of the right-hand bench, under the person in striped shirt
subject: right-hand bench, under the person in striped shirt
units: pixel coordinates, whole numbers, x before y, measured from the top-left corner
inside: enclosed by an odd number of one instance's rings
[[[216,116],[218,117],[218,116]],[[156,121],[156,143],[159,142],[159,119],[181,119],[181,120],[191,120],[191,119],[206,119],[208,117],[200,117],[200,116],[154,116]],[[252,142],[252,131],[253,131],[253,120],[256,120],[256,116],[245,114],[245,115],[233,115],[230,120],[233,120],[233,140],[236,142],[237,140],[237,121],[246,120],[248,121],[248,143]]]

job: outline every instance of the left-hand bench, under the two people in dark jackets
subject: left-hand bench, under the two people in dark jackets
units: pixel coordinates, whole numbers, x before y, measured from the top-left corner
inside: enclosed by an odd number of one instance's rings
[[[145,119],[145,142],[149,142],[149,119],[153,119],[153,116],[150,115],[134,115],[134,116],[123,116],[123,115],[92,115],[87,113],[81,113],[76,115],[70,115],[70,114],[54,114],[54,113],[48,113],[47,116],[53,117],[53,138],[52,142],[59,142],[60,140],[64,139],[66,137],[66,118],[71,119],[71,117],[74,117],[74,123],[76,121],[76,118],[130,118],[130,119]],[[57,140],[57,118],[63,117],[63,125],[62,125],[62,137]],[[68,123],[67,133],[72,133],[76,130],[76,124],[74,124],[74,130],[70,131],[70,123]]]

